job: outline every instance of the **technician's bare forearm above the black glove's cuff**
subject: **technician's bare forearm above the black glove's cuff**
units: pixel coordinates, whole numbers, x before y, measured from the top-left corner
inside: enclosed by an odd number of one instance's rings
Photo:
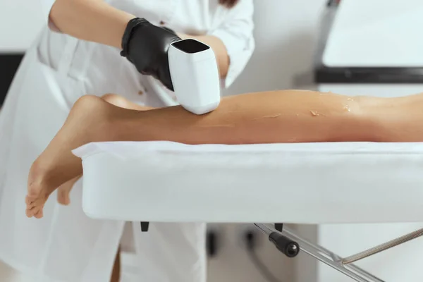
[[[123,32],[135,16],[102,0],[56,0],[50,20],[63,33],[121,49]]]

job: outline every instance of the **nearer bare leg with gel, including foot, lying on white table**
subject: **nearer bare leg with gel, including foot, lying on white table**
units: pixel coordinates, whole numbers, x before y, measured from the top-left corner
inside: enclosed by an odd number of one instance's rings
[[[51,192],[82,173],[71,149],[89,142],[423,142],[422,109],[423,94],[384,99],[287,90],[226,97],[212,113],[196,116],[180,106],[133,111],[85,96],[32,165],[27,216],[39,217]]]

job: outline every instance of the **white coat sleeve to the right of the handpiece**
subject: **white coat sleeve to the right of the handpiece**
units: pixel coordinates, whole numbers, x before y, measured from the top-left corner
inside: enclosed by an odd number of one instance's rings
[[[253,0],[241,0],[231,8],[223,23],[210,32],[219,37],[228,51],[230,66],[223,86],[228,88],[244,70],[255,49]]]

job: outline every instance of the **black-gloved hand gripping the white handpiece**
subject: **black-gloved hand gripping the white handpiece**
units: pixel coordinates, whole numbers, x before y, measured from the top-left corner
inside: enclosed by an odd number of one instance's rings
[[[152,25],[145,18],[134,18],[126,26],[121,56],[126,57],[143,75],[152,75],[173,91],[168,49],[180,40],[173,30]]]

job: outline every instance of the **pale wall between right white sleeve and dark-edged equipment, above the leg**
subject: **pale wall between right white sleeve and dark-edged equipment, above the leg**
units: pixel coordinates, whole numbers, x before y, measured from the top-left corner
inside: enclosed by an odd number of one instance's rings
[[[312,70],[317,25],[326,0],[255,0],[256,51],[227,92],[286,89]]]

